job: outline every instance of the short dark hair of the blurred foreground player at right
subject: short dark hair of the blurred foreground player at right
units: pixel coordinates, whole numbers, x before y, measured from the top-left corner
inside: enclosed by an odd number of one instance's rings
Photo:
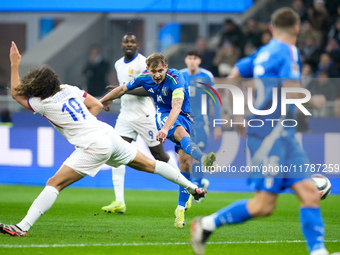
[[[292,8],[283,7],[272,14],[271,22],[274,28],[290,31],[300,24],[300,17]]]

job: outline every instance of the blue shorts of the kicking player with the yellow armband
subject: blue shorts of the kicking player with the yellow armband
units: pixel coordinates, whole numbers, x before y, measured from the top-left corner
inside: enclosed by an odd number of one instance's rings
[[[158,112],[156,113],[156,124],[157,124],[157,129],[161,130],[163,125],[165,124],[166,120],[168,119],[170,112]],[[168,136],[167,138],[174,142],[175,145],[175,150],[176,152],[178,151],[178,149],[181,148],[181,144],[180,142],[176,142],[175,141],[175,137],[174,137],[174,133],[175,133],[175,129],[177,126],[182,126],[184,127],[184,129],[188,132],[188,134],[190,135],[190,119],[187,116],[184,116],[182,114],[179,114],[177,117],[177,120],[175,121],[174,125],[169,129],[168,131]]]

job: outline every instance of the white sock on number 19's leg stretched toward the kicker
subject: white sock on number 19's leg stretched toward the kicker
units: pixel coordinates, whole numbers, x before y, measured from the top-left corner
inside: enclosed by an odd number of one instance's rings
[[[181,172],[165,162],[156,160],[154,173],[182,186],[187,189],[190,194],[195,193],[195,189],[197,189],[197,186],[185,178]]]

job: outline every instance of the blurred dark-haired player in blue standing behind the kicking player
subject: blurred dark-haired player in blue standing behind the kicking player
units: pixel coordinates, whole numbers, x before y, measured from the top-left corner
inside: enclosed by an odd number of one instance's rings
[[[202,90],[208,89],[208,86],[215,85],[215,79],[213,74],[200,67],[201,64],[201,55],[198,50],[189,50],[186,53],[186,57],[184,59],[187,68],[180,70],[183,74],[183,77],[187,84],[189,85],[190,91],[190,110],[193,117],[193,122],[191,123],[192,130],[195,131],[191,134],[191,139],[194,143],[198,145],[198,147],[204,151],[208,145],[208,138],[210,134],[209,127],[209,114],[202,114],[202,104],[201,104],[201,96],[203,94],[207,95],[207,93]],[[197,100],[192,100],[192,99]],[[210,98],[210,97],[207,97]],[[211,99],[211,98],[210,98]],[[212,100],[211,100],[212,101]],[[207,113],[210,113],[210,100],[207,100]],[[214,118],[221,119],[221,106],[220,104],[215,104],[214,107]],[[222,128],[220,126],[216,126],[214,128],[214,138],[215,140],[219,140],[222,136]],[[195,169],[196,166],[200,166],[199,162],[194,162],[192,169]],[[188,179],[190,178],[190,173],[183,173]],[[199,174],[197,174],[199,175]],[[197,177],[197,176],[196,176]],[[206,178],[191,178],[193,183],[197,184],[199,187],[207,190],[209,187],[209,180]],[[188,193],[185,193],[183,189],[180,187],[180,194],[178,198],[178,204],[185,206],[186,201],[188,201],[187,207],[191,207],[191,196],[189,199]],[[189,200],[188,200],[189,199]]]

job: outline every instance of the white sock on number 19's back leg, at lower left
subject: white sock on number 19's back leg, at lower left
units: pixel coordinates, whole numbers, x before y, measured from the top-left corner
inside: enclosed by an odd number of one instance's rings
[[[55,187],[46,186],[28,209],[25,218],[17,226],[23,231],[28,231],[40,216],[52,207],[58,195],[59,191]]]

